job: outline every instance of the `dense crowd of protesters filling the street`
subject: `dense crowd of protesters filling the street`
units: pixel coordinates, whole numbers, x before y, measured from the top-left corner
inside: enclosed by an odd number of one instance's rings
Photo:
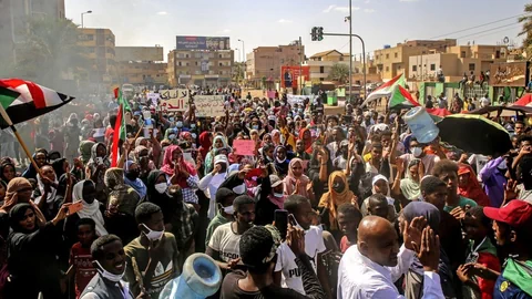
[[[21,125],[38,168],[1,132],[0,298],[155,299],[194,252],[224,276],[211,298],[532,298],[525,122],[483,156],[405,112],[197,92],[225,115],[132,96],[116,157],[116,99]]]

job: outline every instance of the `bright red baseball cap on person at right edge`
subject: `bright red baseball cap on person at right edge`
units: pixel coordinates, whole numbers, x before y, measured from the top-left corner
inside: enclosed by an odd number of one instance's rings
[[[524,200],[513,199],[500,208],[484,207],[484,215],[495,221],[521,228],[530,226],[532,223],[532,205]]]

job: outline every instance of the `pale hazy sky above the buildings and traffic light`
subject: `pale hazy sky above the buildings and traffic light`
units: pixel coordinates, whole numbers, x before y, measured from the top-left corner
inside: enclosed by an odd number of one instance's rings
[[[352,33],[366,52],[406,40],[458,38],[460,44],[521,44],[518,16],[529,0],[352,0]],[[86,28],[109,28],[116,45],[175,49],[176,35],[229,37],[232,49],[246,53],[257,47],[303,39],[305,54],[336,49],[349,52],[347,37],[311,41],[313,27],[325,33],[348,33],[349,0],[65,0],[66,18]],[[505,20],[503,20],[505,19]],[[491,23],[493,22],[493,23]],[[483,25],[491,23],[489,25]],[[472,27],[478,27],[470,29]],[[469,30],[468,30],[469,29]],[[460,31],[460,32],[457,32]],[[448,34],[451,33],[451,34]],[[354,39],[357,58],[361,45]]]

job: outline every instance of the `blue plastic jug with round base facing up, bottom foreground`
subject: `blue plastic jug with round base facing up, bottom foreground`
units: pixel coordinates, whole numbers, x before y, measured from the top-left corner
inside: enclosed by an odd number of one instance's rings
[[[164,286],[160,299],[205,299],[222,285],[222,271],[213,258],[194,254],[185,260],[183,272]]]

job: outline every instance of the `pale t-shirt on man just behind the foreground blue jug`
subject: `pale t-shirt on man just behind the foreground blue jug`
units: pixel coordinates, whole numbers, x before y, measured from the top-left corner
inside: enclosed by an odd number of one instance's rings
[[[218,251],[219,258],[225,262],[241,257],[239,244],[242,235],[233,233],[232,224],[228,223],[216,227],[208,241],[208,247]]]

